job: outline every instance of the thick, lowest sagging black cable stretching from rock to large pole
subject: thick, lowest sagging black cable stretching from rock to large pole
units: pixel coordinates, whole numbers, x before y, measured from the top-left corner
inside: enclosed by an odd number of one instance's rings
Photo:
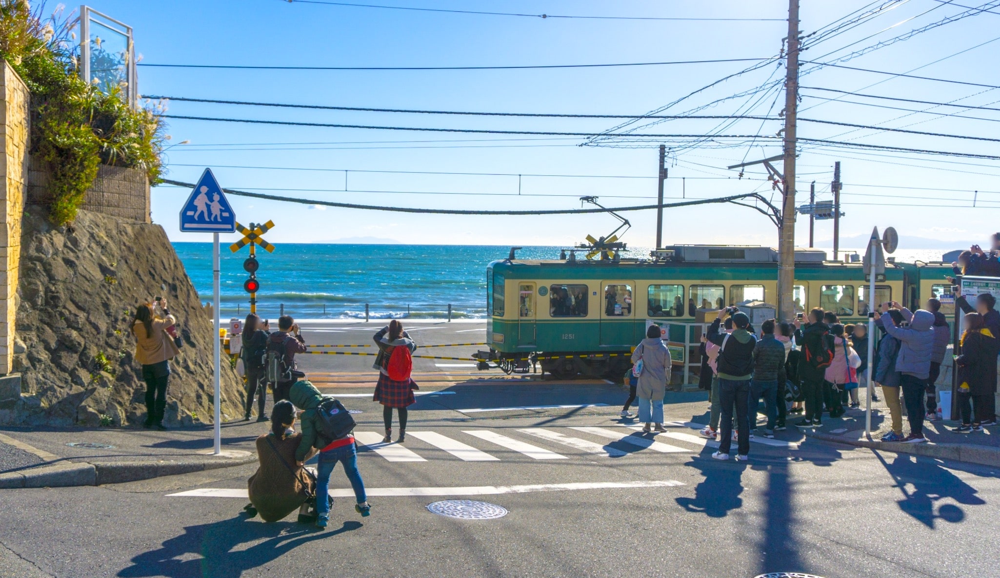
[[[180,187],[194,188],[195,186],[195,183],[185,183],[182,181],[175,181],[172,179],[163,179],[163,182],[169,185],[177,185]],[[681,201],[677,203],[638,205],[632,207],[608,207],[608,208],[598,208],[598,209],[542,209],[542,210],[531,210],[531,211],[481,211],[481,210],[463,210],[463,209],[423,209],[419,207],[387,207],[379,205],[359,205],[356,203],[338,203],[335,201],[321,201],[315,199],[282,197],[279,195],[268,195],[264,193],[251,193],[249,191],[240,191],[236,189],[222,189],[222,190],[225,191],[226,194],[240,196],[240,197],[253,197],[256,199],[266,199],[270,201],[284,201],[288,203],[299,203],[303,205],[324,205],[327,207],[339,207],[342,209],[362,209],[369,211],[388,211],[394,213],[424,213],[432,215],[581,215],[587,213],[607,213],[611,211],[615,212],[645,211],[649,209],[658,209],[661,207],[669,209],[675,207],[688,207],[692,205],[704,205],[707,203],[731,203],[734,201],[739,201],[741,199],[747,199],[747,198],[755,198],[760,201],[767,202],[767,199],[756,193],[744,193],[741,195],[730,195],[728,197],[695,199],[690,201]]]

